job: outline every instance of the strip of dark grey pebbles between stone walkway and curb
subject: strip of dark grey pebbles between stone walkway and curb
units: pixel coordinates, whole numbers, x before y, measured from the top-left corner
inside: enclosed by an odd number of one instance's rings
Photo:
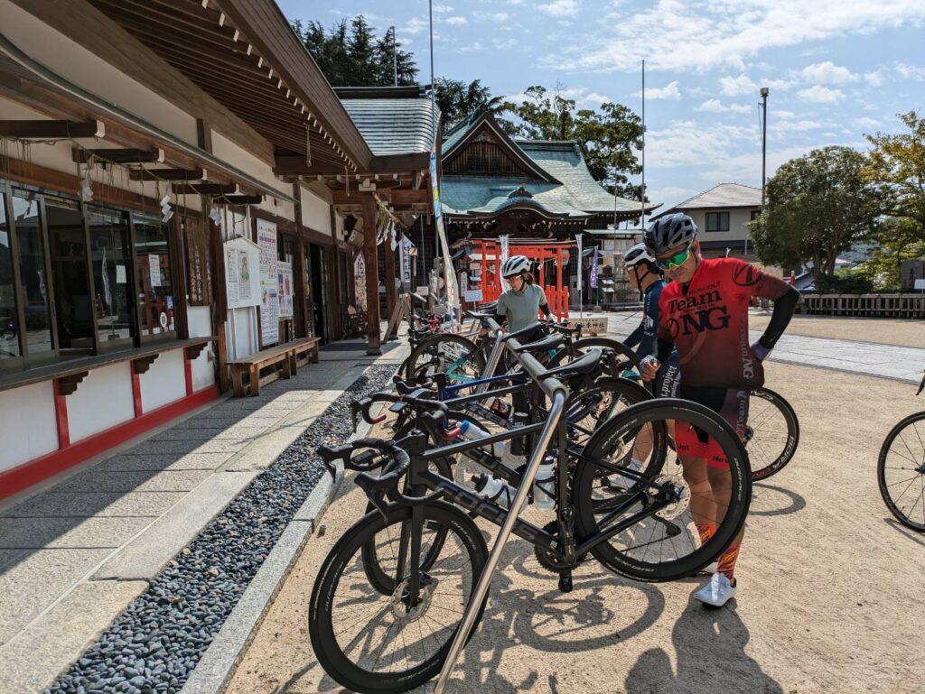
[[[395,371],[373,366],[205,530],[45,694],[174,694],[325,472],[314,451],[351,435],[350,403]]]

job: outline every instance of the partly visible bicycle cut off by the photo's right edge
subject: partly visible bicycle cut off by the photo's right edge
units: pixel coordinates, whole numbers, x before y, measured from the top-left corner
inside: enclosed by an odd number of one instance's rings
[[[916,396],[923,388],[925,376]],[[886,435],[877,461],[877,484],[896,520],[925,532],[925,412],[909,415]]]

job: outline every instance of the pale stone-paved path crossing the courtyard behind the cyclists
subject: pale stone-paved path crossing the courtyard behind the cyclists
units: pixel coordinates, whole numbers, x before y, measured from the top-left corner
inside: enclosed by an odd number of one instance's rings
[[[642,318],[639,312],[595,315],[607,316],[608,332],[616,337],[625,337],[632,333]],[[751,331],[753,341],[757,340],[760,335],[760,331]],[[922,371],[925,371],[925,347],[896,347],[786,333],[774,347],[769,359],[789,364],[815,366],[820,369],[878,376],[910,384],[918,384]]]

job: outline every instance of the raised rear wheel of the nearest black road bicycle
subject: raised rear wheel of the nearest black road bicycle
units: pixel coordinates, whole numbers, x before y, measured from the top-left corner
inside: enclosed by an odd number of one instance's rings
[[[640,432],[663,427],[668,420],[674,421],[675,431],[695,426],[722,447],[729,470],[709,472],[712,493],[692,495],[679,463],[666,463],[656,474],[648,472],[648,465],[633,474],[625,469],[625,459],[638,448]],[[573,505],[579,544],[602,540],[589,551],[623,576],[647,581],[691,576],[719,556],[745,523],[751,501],[746,460],[732,427],[702,405],[659,398],[625,410],[595,432],[575,470]],[[698,474],[707,475],[706,463],[702,467]],[[614,472],[634,478],[635,484],[614,488],[607,483]],[[726,498],[724,516],[712,537],[701,543],[697,523],[706,518],[695,517],[691,502],[702,508],[713,494]]]

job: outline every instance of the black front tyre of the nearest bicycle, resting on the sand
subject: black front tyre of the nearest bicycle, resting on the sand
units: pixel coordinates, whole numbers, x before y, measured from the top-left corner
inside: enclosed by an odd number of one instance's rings
[[[450,622],[450,625],[443,625],[442,622],[438,622],[440,626],[444,627],[443,630],[449,630],[450,633],[446,635],[446,639],[442,646],[439,646],[440,640],[434,637],[434,640],[438,641],[439,647],[437,651],[429,657],[423,658],[419,664],[401,670],[392,669],[392,663],[389,662],[388,672],[376,672],[366,669],[362,664],[354,663],[351,656],[344,652],[340,646],[338,637],[346,628],[357,626],[366,629],[370,627],[375,628],[377,621],[381,624],[383,621],[388,620],[390,612],[396,617],[396,619],[391,621],[386,632],[386,636],[391,635],[392,627],[399,623],[400,617],[395,613],[398,609],[401,609],[400,607],[392,607],[391,603],[387,603],[379,610],[379,617],[376,617],[376,615],[371,616],[368,624],[360,625],[359,623],[349,620],[351,624],[348,627],[341,628],[339,633],[335,631],[335,627],[343,627],[343,624],[339,623],[335,615],[332,614],[335,600],[338,597],[345,599],[343,594],[338,596],[338,588],[345,569],[351,564],[351,559],[371,537],[374,538],[375,541],[377,533],[388,529],[388,527],[393,524],[409,522],[412,517],[411,506],[389,505],[386,509],[386,517],[383,517],[378,511],[364,516],[359,522],[352,526],[350,530],[344,533],[343,537],[340,538],[327,554],[324,562],[322,562],[318,577],[315,579],[308,609],[308,633],[312,642],[314,654],[318,659],[318,663],[321,664],[329,676],[335,679],[341,686],[351,689],[352,691],[362,691],[367,694],[399,694],[400,692],[419,687],[427,680],[436,676],[443,666],[447,654],[450,651],[452,640],[459,630],[459,622],[462,620],[462,611],[465,609],[465,606],[471,602],[472,591],[475,589],[475,584],[478,582],[485,568],[488,557],[485,539],[470,517],[466,516],[462,510],[455,506],[440,501],[425,505],[423,511],[425,521],[431,520],[443,525],[448,531],[453,532],[454,535],[459,538],[460,547],[466,554],[469,566],[471,566],[472,576],[468,580],[462,580],[461,594],[465,600],[465,604],[460,605],[455,600],[450,600],[449,602],[454,606],[453,609],[449,610],[444,608],[444,612],[440,613],[441,619],[453,620]],[[442,581],[439,581],[444,591],[451,586],[443,585],[443,583],[449,583],[450,580],[451,578],[444,578]],[[355,592],[355,599],[351,598],[345,603],[345,609],[351,610],[352,616],[361,613],[363,609],[359,601],[365,597],[369,597],[364,594],[362,585],[359,585],[361,582],[362,581],[356,581],[351,584],[351,586],[344,587],[345,591],[352,589]],[[468,583],[468,588],[466,587],[466,583]],[[433,585],[436,586],[437,582],[434,582]],[[444,594],[446,594],[446,592],[439,593],[439,595]],[[378,596],[379,601],[381,601],[381,598],[382,596]],[[440,598],[438,597],[438,599]],[[470,638],[472,634],[475,633],[475,625],[478,624],[478,621],[482,617],[486,602],[487,600],[483,601],[479,606],[473,630],[470,632]],[[427,613],[434,607],[434,595],[431,594],[429,598],[426,596],[423,597],[422,604],[424,603],[425,607],[422,612]],[[453,616],[447,617],[444,616],[445,614]],[[408,623],[413,625],[419,619],[421,619],[420,615]],[[425,614],[424,619],[426,619]],[[405,635],[401,631],[401,628],[402,627],[400,627],[395,635],[392,635],[393,638],[391,640],[395,641],[396,647],[400,643],[404,646],[405,661],[407,662],[407,641],[404,639]],[[421,626],[419,625],[417,630],[410,631],[412,638],[416,638],[417,631],[420,629]],[[401,639],[398,637],[401,637]],[[359,636],[357,638],[359,638]],[[391,644],[386,643],[386,640],[387,639],[381,639],[376,643],[377,648],[388,648]],[[421,641],[422,643],[426,641],[423,634]],[[350,644],[348,644],[348,646],[349,645]],[[363,644],[360,644],[360,648],[362,651]],[[360,655],[363,656],[364,653],[360,652]],[[382,651],[380,650],[379,656],[376,658],[376,663],[373,664],[374,666],[378,663],[381,656]],[[360,660],[360,658],[356,660]]]

